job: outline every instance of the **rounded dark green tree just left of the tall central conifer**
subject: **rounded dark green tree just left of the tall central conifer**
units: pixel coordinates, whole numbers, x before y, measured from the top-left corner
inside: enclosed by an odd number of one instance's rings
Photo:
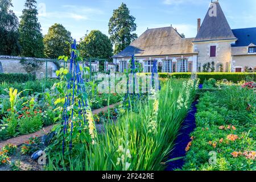
[[[112,43],[108,36],[99,30],[92,30],[79,44],[83,57],[110,59],[113,56]]]

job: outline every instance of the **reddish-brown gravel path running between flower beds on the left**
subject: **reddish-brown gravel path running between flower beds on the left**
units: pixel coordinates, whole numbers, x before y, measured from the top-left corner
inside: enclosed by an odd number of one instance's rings
[[[115,106],[117,106],[117,105],[119,105],[119,104],[120,104],[120,103],[113,104],[113,105],[110,105],[109,107],[110,107],[110,108],[114,108]],[[108,110],[108,106],[103,107],[103,108],[101,108],[101,109],[93,110],[92,113],[93,113],[93,114],[98,114],[98,113],[100,113],[101,111],[106,111],[106,110]],[[47,127],[43,128],[42,130],[37,131],[36,133],[32,133],[32,134],[28,134],[28,135],[22,135],[22,136],[20,136],[20,137],[11,138],[11,139],[9,139],[9,140],[5,140],[5,141],[3,141],[3,142],[0,142],[0,150],[1,150],[2,147],[6,146],[6,144],[9,144],[9,143],[10,143],[10,144],[14,144],[15,146],[20,146],[21,144],[25,143],[25,142],[26,142],[29,138],[31,138],[31,137],[34,137],[34,136],[42,137],[43,135],[48,134],[48,133],[51,131],[51,129],[52,129],[53,126],[54,126],[54,125],[52,125],[52,126],[47,126]]]

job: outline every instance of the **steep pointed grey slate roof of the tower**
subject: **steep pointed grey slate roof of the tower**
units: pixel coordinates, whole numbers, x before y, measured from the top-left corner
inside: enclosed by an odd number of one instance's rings
[[[209,12],[212,12],[214,4],[216,5],[217,16],[210,16]],[[207,11],[207,15],[205,15],[204,22],[200,27],[195,42],[228,39],[236,39],[236,37],[226,20],[220,4],[218,2],[213,2]]]

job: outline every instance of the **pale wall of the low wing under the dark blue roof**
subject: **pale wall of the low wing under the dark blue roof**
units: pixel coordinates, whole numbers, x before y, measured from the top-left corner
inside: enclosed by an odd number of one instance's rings
[[[256,54],[232,56],[232,72],[235,72],[236,68],[242,68],[244,72],[245,67],[256,69]]]

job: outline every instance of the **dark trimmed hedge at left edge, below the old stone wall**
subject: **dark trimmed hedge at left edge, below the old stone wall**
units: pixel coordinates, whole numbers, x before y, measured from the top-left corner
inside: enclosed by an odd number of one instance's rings
[[[0,82],[27,82],[36,80],[35,75],[22,74],[22,73],[0,73]]]

